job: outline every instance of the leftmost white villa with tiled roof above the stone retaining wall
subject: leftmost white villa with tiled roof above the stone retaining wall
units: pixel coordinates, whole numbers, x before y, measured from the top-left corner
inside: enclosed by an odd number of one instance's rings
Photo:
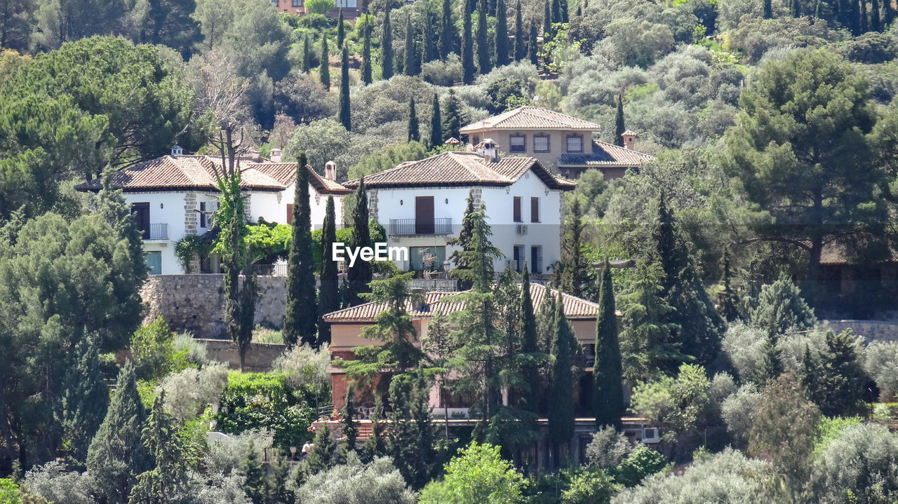
[[[120,169],[112,176],[131,205],[138,229],[144,232],[144,251],[150,274],[184,273],[174,253],[174,244],[187,235],[202,235],[213,227],[218,205],[218,189],[213,166],[221,166],[214,156],[183,155],[178,146],[172,153],[135,166]],[[246,195],[250,222],[288,224],[293,220],[296,163],[281,162],[280,150],[271,150],[271,159],[258,152],[240,159],[241,187]],[[328,163],[325,177],[309,170],[309,200],[313,227],[324,222],[327,196],[334,196],[337,222],[343,222],[342,198],[351,191],[334,180],[336,169]],[[97,178],[76,187],[99,191]],[[217,273],[217,265],[204,262],[203,273]]]

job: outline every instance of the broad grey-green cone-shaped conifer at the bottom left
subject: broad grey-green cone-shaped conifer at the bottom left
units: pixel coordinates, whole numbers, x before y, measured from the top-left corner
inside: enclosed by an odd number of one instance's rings
[[[136,373],[131,362],[119,372],[116,389],[106,418],[88,449],[87,470],[103,501],[126,504],[137,482],[137,474],[153,465],[143,444],[146,411],[137,392]]]

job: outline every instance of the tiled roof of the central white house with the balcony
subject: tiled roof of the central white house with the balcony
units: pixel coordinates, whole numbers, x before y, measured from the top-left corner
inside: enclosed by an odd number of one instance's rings
[[[486,161],[474,152],[443,152],[420,161],[401,163],[396,168],[385,169],[365,177],[365,187],[506,187],[515,183],[528,170],[539,177],[551,189],[571,190],[575,182],[552,175],[535,158],[506,157],[498,161]],[[358,179],[350,180],[346,187],[358,186]]]

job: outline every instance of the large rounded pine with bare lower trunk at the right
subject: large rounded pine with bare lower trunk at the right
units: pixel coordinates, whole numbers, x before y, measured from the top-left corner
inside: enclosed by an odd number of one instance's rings
[[[867,85],[841,56],[800,50],[764,65],[739,100],[724,169],[770,213],[762,238],[805,251],[806,277],[818,281],[824,242],[862,238],[885,222]]]

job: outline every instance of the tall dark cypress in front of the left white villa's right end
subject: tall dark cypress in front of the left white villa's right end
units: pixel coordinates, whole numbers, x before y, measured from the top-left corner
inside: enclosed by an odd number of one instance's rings
[[[284,341],[314,346],[315,322],[315,262],[312,254],[312,211],[309,208],[309,171],[305,152],[299,152],[296,162],[293,222],[291,222],[290,251],[287,254],[286,309]]]

